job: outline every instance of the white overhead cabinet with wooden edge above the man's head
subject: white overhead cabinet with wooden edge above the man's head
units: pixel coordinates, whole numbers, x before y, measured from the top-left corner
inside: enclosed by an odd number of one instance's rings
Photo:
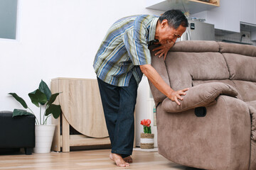
[[[175,8],[181,11],[189,11],[189,13],[198,13],[218,6],[220,6],[220,0],[210,0],[210,2],[198,0],[146,0],[146,8],[159,11],[168,11]]]

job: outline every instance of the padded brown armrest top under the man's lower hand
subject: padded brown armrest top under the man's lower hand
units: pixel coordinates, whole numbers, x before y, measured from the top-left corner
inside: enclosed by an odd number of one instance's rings
[[[162,107],[164,111],[170,113],[187,111],[191,108],[208,106],[210,103],[215,102],[215,98],[220,94],[235,97],[238,96],[238,91],[233,86],[220,82],[199,84],[186,91],[186,95],[182,96],[183,101],[179,101],[181,103],[180,106],[169,98],[165,98]]]

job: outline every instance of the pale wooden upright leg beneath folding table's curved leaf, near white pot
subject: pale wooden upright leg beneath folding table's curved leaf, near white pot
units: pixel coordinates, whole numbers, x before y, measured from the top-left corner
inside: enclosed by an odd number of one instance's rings
[[[66,120],[65,115],[62,119],[62,148],[63,152],[70,152],[70,125]]]

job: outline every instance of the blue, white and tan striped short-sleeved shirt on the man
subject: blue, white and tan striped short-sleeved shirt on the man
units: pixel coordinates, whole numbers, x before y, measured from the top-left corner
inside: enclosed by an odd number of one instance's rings
[[[143,75],[139,65],[151,64],[148,42],[154,40],[158,19],[139,15],[116,21],[95,56],[97,77],[107,84],[128,86],[133,75],[139,84]]]

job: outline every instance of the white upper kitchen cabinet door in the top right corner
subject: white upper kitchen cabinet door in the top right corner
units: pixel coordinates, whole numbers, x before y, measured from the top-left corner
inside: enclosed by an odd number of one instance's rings
[[[240,21],[244,23],[256,24],[256,1],[255,0],[240,0]]]

